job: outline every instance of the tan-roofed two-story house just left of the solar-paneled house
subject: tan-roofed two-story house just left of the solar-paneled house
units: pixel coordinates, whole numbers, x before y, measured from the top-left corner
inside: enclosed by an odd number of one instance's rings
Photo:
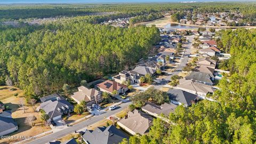
[[[102,101],[102,92],[96,89],[87,89],[85,86],[77,87],[78,92],[71,95],[78,104],[81,101],[85,101],[86,105],[92,105],[94,103],[100,103]]]

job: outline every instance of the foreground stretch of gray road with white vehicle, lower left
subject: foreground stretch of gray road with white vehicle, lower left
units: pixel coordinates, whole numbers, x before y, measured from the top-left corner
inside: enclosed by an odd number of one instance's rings
[[[29,143],[29,144],[30,143],[31,144],[34,144],[34,143],[44,144],[44,143],[47,143],[47,142],[50,142],[50,141],[55,141],[59,138],[65,137],[66,135],[68,135],[70,133],[73,133],[75,131],[78,132],[81,129],[84,129],[84,128],[86,129],[86,127],[88,125],[92,125],[92,124],[97,123],[97,122],[99,122],[99,121],[101,121],[101,120],[103,120],[103,119],[105,119],[105,118],[107,118],[111,115],[114,115],[114,114],[118,113],[119,111],[123,110],[124,108],[126,108],[127,106],[129,106],[130,104],[131,104],[131,101],[127,101],[127,102],[122,103],[121,105],[119,105],[117,107],[117,109],[115,109],[115,110],[108,110],[104,114],[101,114],[101,115],[98,115],[98,116],[93,116],[92,118],[86,119],[85,121],[83,121],[81,123],[75,124],[73,126],[69,126],[66,129],[63,129],[63,130],[60,130],[58,132],[45,135],[42,138],[27,142],[27,143]]]

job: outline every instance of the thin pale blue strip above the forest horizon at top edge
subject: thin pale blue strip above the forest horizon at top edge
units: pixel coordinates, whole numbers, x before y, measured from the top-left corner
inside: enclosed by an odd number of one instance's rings
[[[169,2],[220,2],[226,0],[0,0],[0,4],[26,3],[169,3]],[[242,1],[242,0],[232,0]],[[244,0],[243,0],[244,1]],[[252,1],[252,0],[247,0]]]

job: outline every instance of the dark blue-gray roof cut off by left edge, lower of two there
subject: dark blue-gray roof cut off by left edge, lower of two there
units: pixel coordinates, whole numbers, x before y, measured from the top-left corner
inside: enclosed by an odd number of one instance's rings
[[[0,132],[12,129],[16,126],[18,126],[18,124],[13,118],[0,116]]]

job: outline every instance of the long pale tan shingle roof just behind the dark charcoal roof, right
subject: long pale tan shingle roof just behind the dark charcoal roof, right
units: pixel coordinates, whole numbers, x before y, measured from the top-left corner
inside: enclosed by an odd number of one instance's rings
[[[198,83],[198,82],[193,82],[188,79],[180,79],[179,84],[177,85],[177,89],[182,88],[186,90],[192,90],[196,92],[202,92],[202,93],[213,93],[214,90],[212,89],[212,86]]]

